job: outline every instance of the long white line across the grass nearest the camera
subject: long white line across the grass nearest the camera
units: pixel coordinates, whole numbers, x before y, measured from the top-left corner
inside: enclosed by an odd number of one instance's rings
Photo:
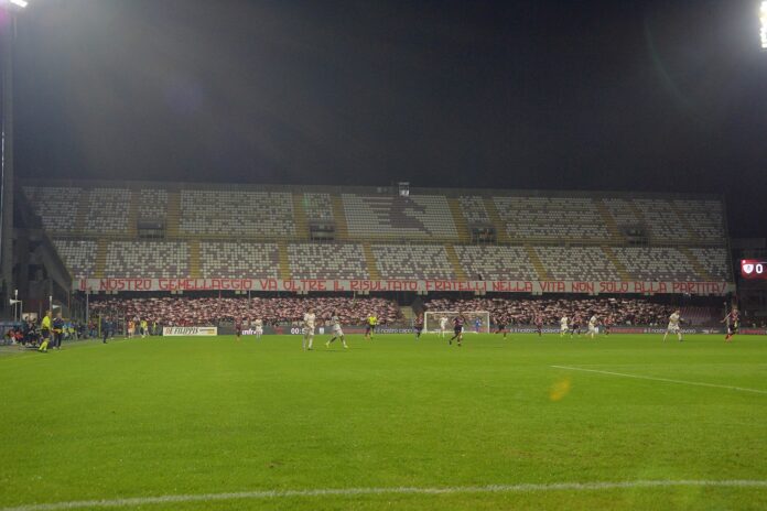
[[[213,502],[226,500],[281,499],[295,497],[354,497],[377,494],[452,494],[452,493],[529,493],[543,491],[588,491],[631,488],[767,488],[767,480],[638,480],[618,482],[551,482],[521,485],[465,486],[443,488],[337,488],[315,490],[258,490],[230,493],[168,494],[156,497],[132,497],[110,500],[80,500],[72,502],[53,502],[25,504],[15,508],[2,508],[0,511],[58,511],[80,508],[125,508],[128,505],[168,504],[179,502]]]

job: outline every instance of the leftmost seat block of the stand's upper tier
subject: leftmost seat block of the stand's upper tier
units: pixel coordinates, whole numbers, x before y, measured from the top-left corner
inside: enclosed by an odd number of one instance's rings
[[[75,230],[82,188],[74,186],[24,186],[23,189],[46,231],[55,236]]]

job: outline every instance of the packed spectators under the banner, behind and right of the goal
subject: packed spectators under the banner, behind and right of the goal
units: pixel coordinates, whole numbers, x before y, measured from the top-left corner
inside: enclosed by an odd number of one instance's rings
[[[544,324],[559,324],[562,316],[572,320],[587,320],[596,315],[601,320],[609,319],[614,325],[666,325],[668,317],[678,308],[640,298],[579,298],[579,300],[432,300],[426,302],[429,311],[487,311],[490,322],[499,318],[515,324],[532,324],[541,317]],[[715,312],[711,312],[712,318]],[[684,315],[682,314],[682,317]]]

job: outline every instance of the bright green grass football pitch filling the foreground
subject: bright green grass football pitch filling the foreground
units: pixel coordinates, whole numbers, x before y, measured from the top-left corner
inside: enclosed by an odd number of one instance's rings
[[[0,510],[767,509],[767,339],[325,339],[4,351]]]

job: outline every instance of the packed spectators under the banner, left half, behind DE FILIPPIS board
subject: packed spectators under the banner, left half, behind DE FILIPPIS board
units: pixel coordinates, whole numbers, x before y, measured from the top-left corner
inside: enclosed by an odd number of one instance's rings
[[[261,319],[267,325],[298,324],[313,309],[318,322],[330,322],[337,311],[345,325],[361,325],[370,314],[381,325],[402,320],[395,302],[366,297],[241,297],[241,298],[108,298],[90,303],[90,314],[145,319],[164,326],[214,326],[236,320]]]

